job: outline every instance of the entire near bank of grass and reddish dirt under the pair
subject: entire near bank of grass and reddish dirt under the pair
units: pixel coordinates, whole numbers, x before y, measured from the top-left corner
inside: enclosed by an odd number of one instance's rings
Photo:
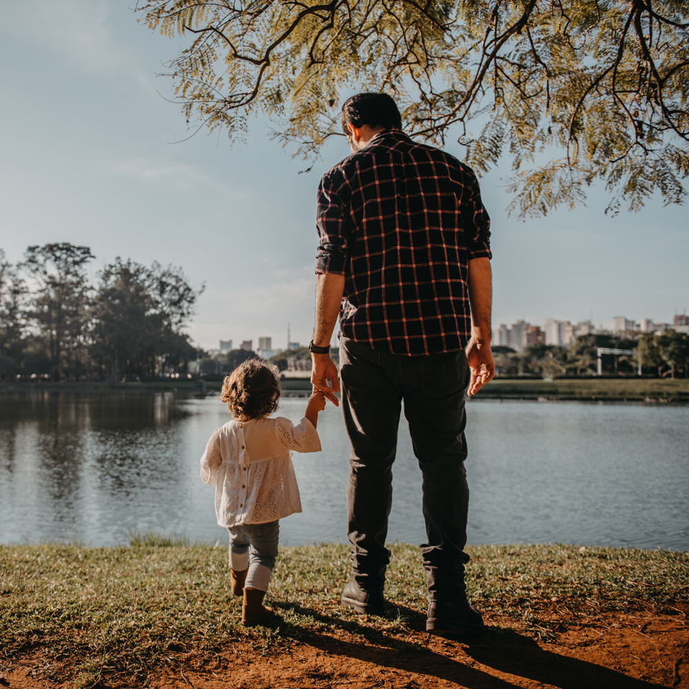
[[[686,552],[467,548],[469,597],[488,628],[440,639],[425,632],[412,546],[390,546],[386,617],[340,604],[347,546],[281,548],[268,595],[280,617],[244,628],[226,548],[154,535],[132,545],[0,546],[0,683],[535,689],[688,679]]]

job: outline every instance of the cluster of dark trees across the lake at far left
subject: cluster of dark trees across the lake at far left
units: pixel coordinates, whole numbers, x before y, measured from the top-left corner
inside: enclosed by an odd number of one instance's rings
[[[183,270],[95,256],[69,243],[0,249],[0,379],[121,380],[183,373],[196,358],[184,332],[203,291]]]

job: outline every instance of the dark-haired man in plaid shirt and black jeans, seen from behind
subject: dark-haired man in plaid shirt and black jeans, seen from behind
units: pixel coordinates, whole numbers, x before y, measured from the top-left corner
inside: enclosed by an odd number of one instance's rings
[[[311,382],[338,404],[329,342],[339,316],[351,444],[352,579],[342,602],[360,613],[384,613],[391,467],[404,400],[423,476],[426,629],[439,635],[475,630],[483,621],[464,586],[464,393],[467,386],[475,393],[494,373],[489,217],[471,169],[411,141],[387,94],[348,99],[342,129],[352,154],[318,189],[310,346]]]

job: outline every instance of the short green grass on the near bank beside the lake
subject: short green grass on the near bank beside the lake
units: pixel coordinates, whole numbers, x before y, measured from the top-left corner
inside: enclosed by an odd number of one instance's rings
[[[136,679],[152,668],[181,668],[212,658],[233,642],[263,654],[302,635],[347,632],[376,641],[395,629],[395,644],[413,650],[409,618],[426,608],[418,548],[391,546],[387,597],[394,619],[360,617],[339,603],[349,575],[341,544],[282,548],[268,600],[282,621],[243,628],[240,599],[229,590],[227,548],[188,544],[163,534],[130,535],[131,545],[0,546],[0,671],[3,662],[39,657],[34,672],[87,689]],[[611,611],[667,612],[685,606],[689,553],[574,546],[468,548],[469,595],[484,612],[500,612],[537,638],[557,621],[543,615],[553,600],[562,615]],[[179,671],[178,669],[176,670]],[[118,679],[119,678],[119,679]]]

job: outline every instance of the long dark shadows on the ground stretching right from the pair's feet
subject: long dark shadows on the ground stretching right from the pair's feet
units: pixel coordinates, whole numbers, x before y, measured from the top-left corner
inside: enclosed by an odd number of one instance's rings
[[[275,605],[275,604],[274,604]],[[311,617],[314,621],[330,627],[341,628],[350,633],[367,637],[369,644],[356,644],[325,637],[317,630],[304,626],[293,626],[282,621],[280,629],[288,637],[296,637],[303,643],[330,654],[395,668],[404,672],[419,672],[424,675],[448,680],[467,689],[514,689],[513,681],[495,677],[484,670],[470,667],[466,657],[480,664],[518,678],[531,679],[550,684],[560,689],[651,689],[660,684],[633,679],[621,672],[604,668],[568,656],[543,650],[538,644],[512,630],[487,627],[482,635],[465,637],[457,635],[453,641],[462,646],[447,644],[444,653],[428,647],[420,647],[409,641],[385,635],[379,630],[362,626],[357,622],[345,621],[316,610],[303,608],[298,604],[277,604],[276,607],[294,610],[299,615]],[[426,617],[416,610],[398,606],[400,617],[407,628],[425,633]],[[457,659],[455,659],[457,658]],[[464,660],[464,661],[462,661]]]

